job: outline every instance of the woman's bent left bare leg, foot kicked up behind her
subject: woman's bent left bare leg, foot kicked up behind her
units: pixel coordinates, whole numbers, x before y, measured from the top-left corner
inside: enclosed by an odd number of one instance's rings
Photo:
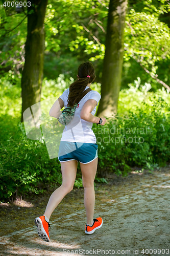
[[[50,219],[52,212],[61,202],[61,200],[72,190],[74,187],[78,162],[71,160],[68,162],[61,162],[62,184],[51,195],[44,215]]]

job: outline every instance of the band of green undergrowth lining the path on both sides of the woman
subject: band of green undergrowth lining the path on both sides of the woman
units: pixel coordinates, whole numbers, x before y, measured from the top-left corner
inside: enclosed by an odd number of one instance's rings
[[[60,75],[56,80],[43,81],[42,100],[59,96],[72,81]],[[42,193],[61,184],[61,169],[57,159],[49,159],[43,140],[30,140],[19,122],[20,87],[1,79],[2,133],[0,158],[0,196],[8,200],[25,193]],[[3,90],[4,88],[4,90]],[[164,89],[150,92],[151,85],[140,78],[120,91],[118,115],[105,126],[96,126],[99,145],[98,176],[95,182],[107,182],[107,172],[127,175],[132,166],[153,169],[164,165],[170,157],[169,102]],[[7,90],[8,89],[8,90]],[[100,92],[100,84],[92,84]],[[143,141],[144,140],[144,141]],[[79,169],[80,171],[80,169]],[[81,173],[75,187],[82,186]]]

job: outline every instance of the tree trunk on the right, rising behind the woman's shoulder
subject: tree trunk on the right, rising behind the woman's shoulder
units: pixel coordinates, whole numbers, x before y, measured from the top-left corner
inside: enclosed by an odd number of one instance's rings
[[[106,51],[103,64],[101,101],[98,116],[111,117],[117,112],[122,77],[124,27],[128,0],[110,0]]]

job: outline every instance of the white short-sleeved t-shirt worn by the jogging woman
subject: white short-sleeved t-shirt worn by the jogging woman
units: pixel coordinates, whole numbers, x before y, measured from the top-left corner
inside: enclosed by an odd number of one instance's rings
[[[87,86],[85,88],[88,89]],[[67,107],[68,103],[68,94],[69,94],[69,88],[63,92],[63,94],[60,96],[60,98],[64,101],[64,107]],[[89,100],[94,99],[98,103],[101,99],[100,93],[96,91],[90,91],[88,92],[79,102],[77,109],[75,111],[74,118],[65,125],[63,134],[62,134],[62,141],[71,141],[71,142],[86,142],[86,143],[96,143],[96,138],[91,130],[92,122],[87,122],[84,119],[80,117],[81,110],[83,108],[84,103]],[[91,114],[94,115],[96,112],[96,106],[92,110]]]

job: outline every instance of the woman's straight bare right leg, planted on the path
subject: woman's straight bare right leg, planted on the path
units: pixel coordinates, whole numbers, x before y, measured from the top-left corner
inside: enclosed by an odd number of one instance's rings
[[[94,178],[98,166],[98,158],[92,162],[83,164],[80,163],[82,171],[82,181],[84,187],[84,206],[86,209],[87,224],[93,224],[95,192],[94,192]]]

